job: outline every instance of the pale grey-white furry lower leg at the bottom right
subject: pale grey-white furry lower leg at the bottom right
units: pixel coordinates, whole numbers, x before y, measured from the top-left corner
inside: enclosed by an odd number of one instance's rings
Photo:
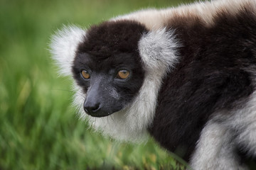
[[[245,170],[235,153],[233,132],[225,125],[210,120],[201,132],[196,150],[191,159],[194,170]]]

